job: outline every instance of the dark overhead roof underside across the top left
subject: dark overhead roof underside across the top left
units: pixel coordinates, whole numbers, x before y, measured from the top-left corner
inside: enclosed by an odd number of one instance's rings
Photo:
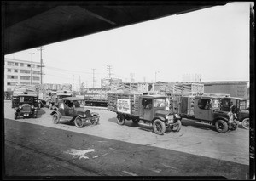
[[[12,54],[226,3],[228,2],[2,1],[2,53]]]

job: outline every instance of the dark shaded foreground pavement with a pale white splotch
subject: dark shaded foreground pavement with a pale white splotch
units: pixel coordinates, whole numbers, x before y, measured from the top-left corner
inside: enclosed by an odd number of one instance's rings
[[[5,120],[5,144],[5,168],[12,176],[224,176],[247,179],[249,169],[247,165],[231,161],[9,119]]]

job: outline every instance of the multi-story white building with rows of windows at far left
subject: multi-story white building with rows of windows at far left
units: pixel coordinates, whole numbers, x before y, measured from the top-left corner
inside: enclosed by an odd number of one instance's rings
[[[31,80],[32,77],[32,80]],[[13,91],[15,84],[41,83],[41,64],[18,59],[4,59],[4,91]]]

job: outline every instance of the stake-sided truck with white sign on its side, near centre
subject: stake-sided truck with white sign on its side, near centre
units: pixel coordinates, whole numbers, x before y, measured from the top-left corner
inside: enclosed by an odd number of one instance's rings
[[[124,125],[125,120],[142,121],[152,126],[156,134],[165,133],[166,127],[174,132],[181,129],[181,118],[169,111],[169,100],[164,95],[108,93],[107,110],[117,113],[119,125]]]

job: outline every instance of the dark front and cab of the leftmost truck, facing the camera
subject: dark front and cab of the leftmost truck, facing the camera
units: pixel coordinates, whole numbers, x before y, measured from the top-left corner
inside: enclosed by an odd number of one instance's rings
[[[28,94],[15,95],[12,98],[12,108],[15,109],[15,119],[18,116],[36,118],[38,116],[38,96]]]

